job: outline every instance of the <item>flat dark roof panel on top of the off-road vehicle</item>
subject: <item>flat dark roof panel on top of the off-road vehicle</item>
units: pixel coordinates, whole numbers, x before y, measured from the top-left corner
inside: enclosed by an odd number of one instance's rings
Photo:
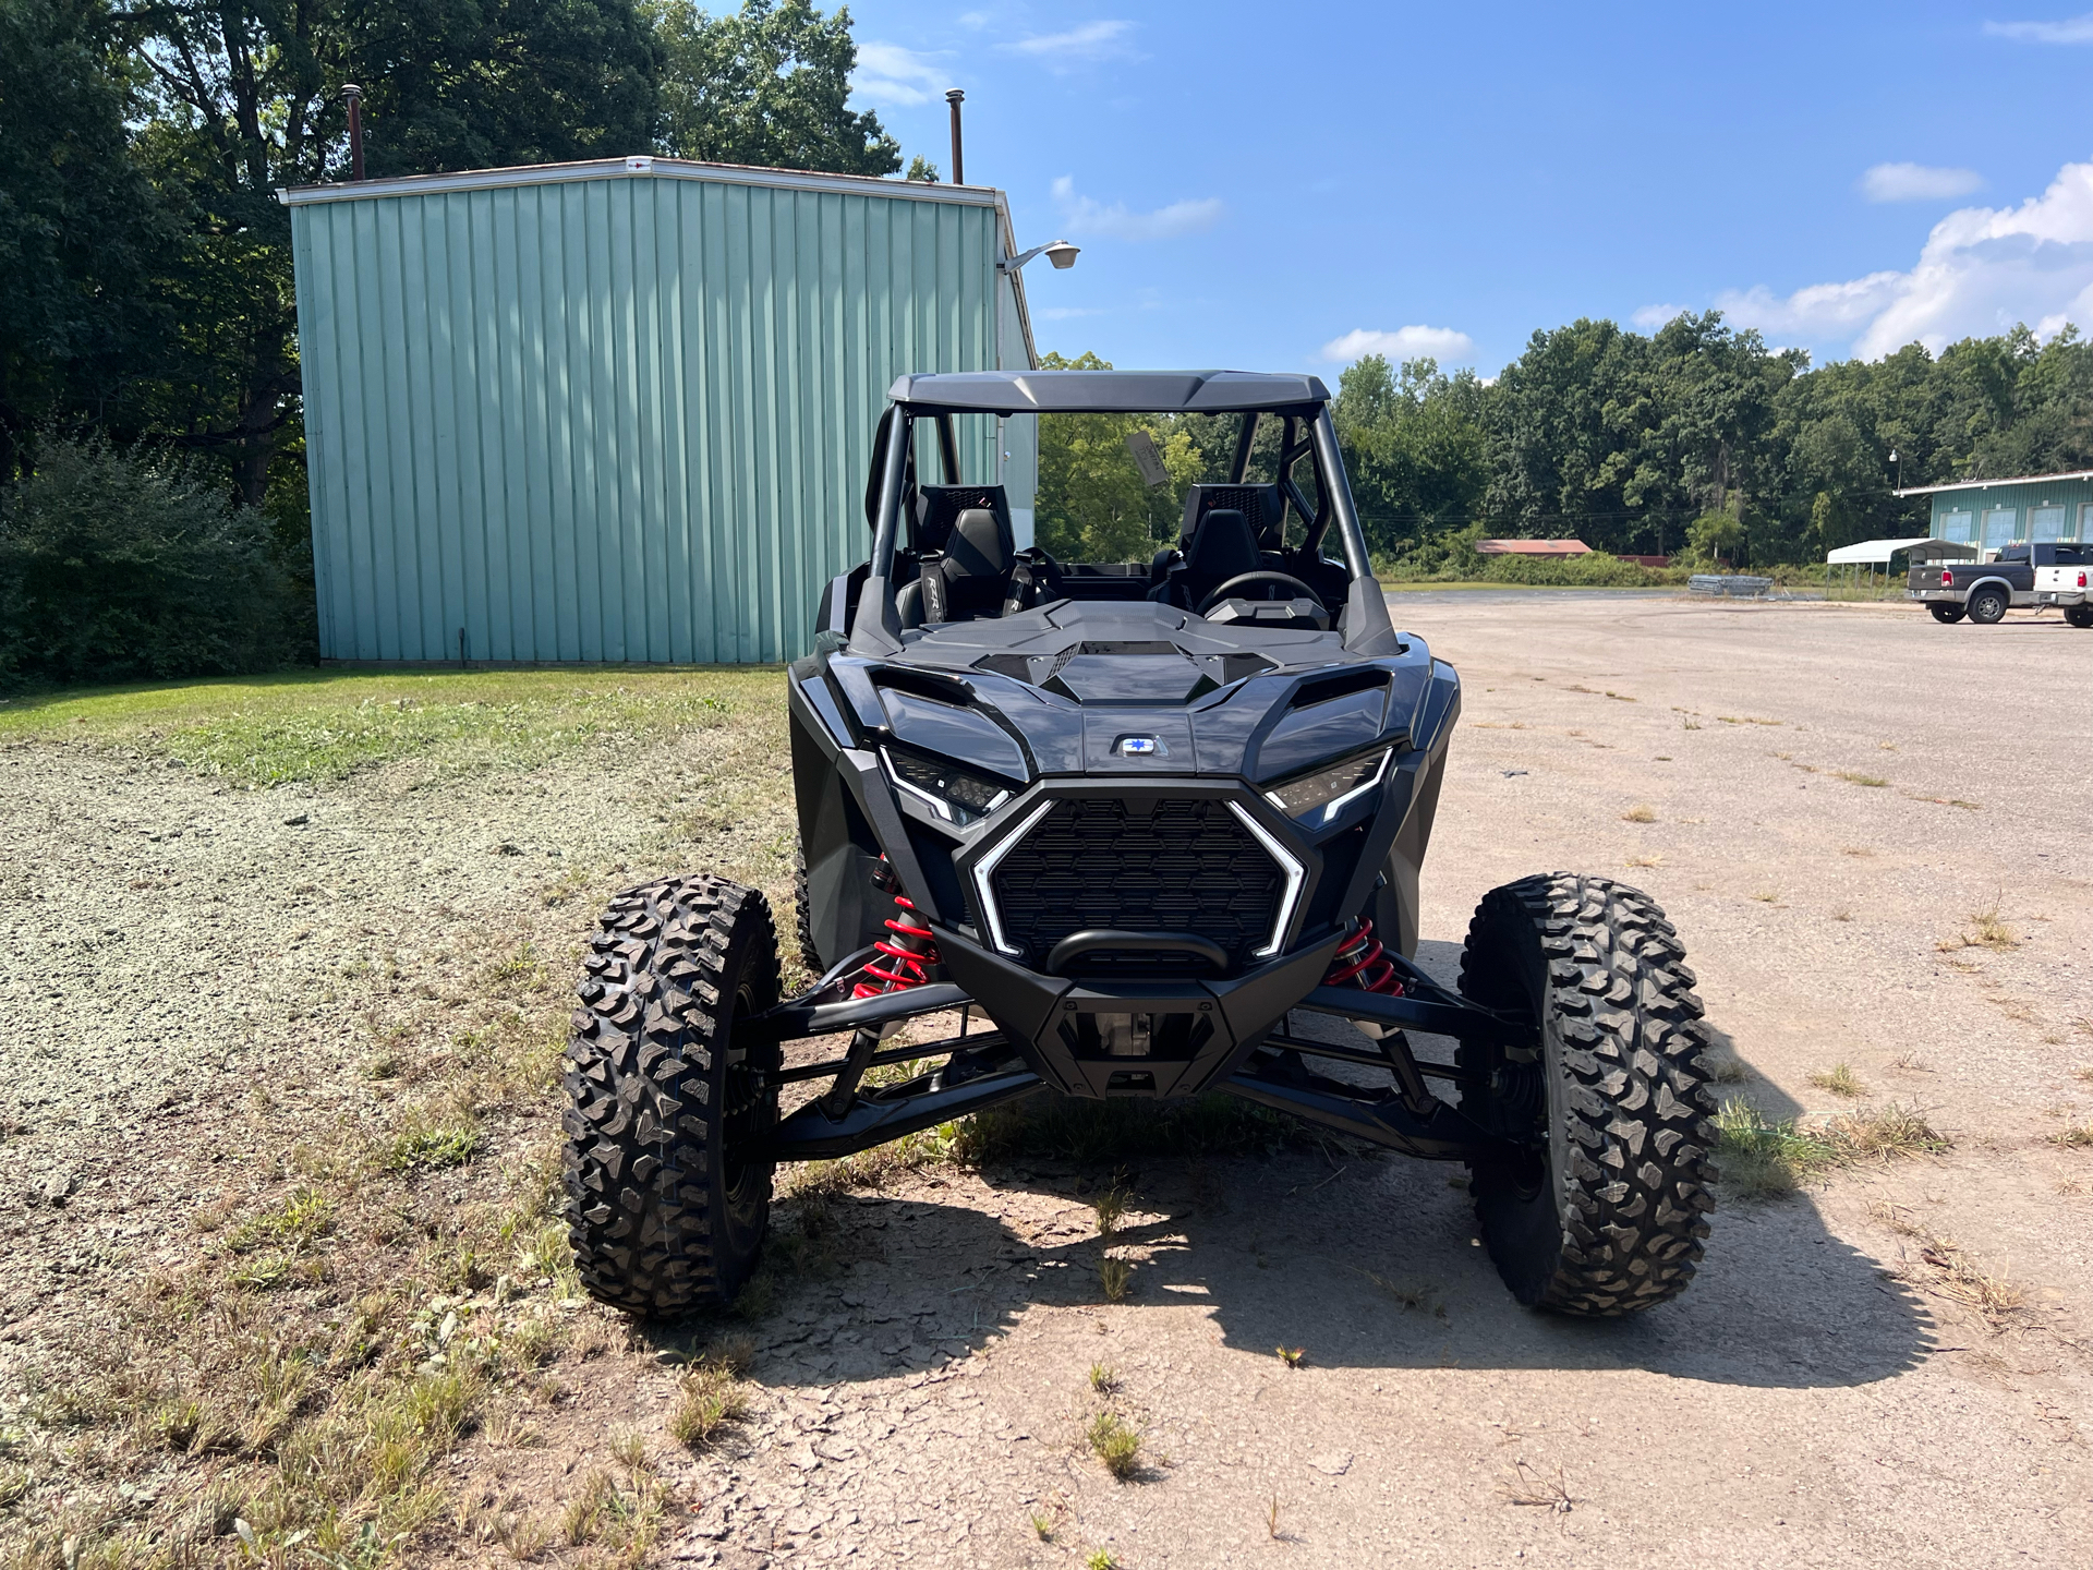
[[[1329,387],[1256,371],[952,371],[896,377],[887,398],[967,414],[1229,414],[1327,404]]]

